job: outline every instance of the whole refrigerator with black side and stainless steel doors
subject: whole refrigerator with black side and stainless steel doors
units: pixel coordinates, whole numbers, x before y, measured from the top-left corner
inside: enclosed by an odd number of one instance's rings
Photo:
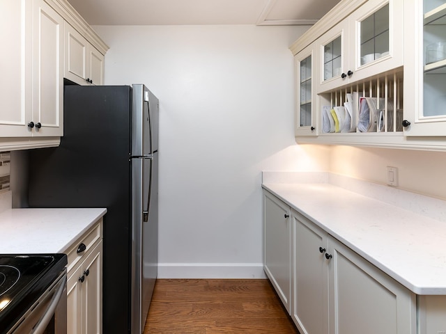
[[[63,128],[58,148],[29,152],[29,206],[107,208],[102,331],[139,334],[157,277],[157,97],[65,86]]]

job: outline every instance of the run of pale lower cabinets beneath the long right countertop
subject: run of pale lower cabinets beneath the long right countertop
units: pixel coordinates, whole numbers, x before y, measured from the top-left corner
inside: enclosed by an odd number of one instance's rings
[[[264,268],[300,334],[418,334],[413,292],[268,191],[263,197]]]

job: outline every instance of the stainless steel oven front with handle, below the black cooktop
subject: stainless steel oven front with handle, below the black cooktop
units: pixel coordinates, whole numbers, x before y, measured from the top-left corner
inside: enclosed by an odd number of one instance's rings
[[[31,308],[17,321],[8,334],[67,333],[66,269]]]

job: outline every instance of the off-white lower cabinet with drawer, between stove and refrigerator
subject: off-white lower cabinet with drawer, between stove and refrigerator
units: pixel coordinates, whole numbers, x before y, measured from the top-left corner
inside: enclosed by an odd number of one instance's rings
[[[102,333],[101,225],[87,232],[68,253],[67,333]]]

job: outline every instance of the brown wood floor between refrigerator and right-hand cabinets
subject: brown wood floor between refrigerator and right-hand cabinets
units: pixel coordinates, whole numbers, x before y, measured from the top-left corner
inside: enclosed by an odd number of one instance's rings
[[[144,334],[298,334],[268,280],[157,280]]]

